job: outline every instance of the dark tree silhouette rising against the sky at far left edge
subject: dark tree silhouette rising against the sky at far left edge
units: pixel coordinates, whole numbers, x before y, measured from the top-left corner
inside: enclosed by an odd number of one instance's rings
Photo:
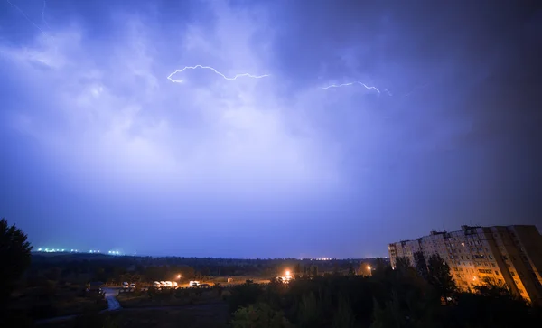
[[[5,219],[0,220],[0,307],[5,307],[16,282],[30,266],[31,250],[22,230],[8,226]]]

